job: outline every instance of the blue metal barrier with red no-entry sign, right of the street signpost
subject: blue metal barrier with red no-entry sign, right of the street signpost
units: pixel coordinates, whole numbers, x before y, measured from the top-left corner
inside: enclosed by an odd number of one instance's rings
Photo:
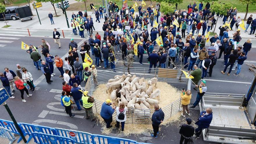
[[[58,136],[72,138],[75,143],[90,144],[90,138],[92,135],[90,133],[83,132],[83,131],[74,131],[69,129],[61,129],[61,128],[55,128],[55,129],[58,133]]]

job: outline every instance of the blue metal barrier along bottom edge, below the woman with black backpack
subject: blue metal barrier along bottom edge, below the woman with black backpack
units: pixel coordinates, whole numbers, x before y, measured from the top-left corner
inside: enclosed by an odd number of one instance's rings
[[[93,144],[136,144],[136,141],[125,139],[125,138],[116,138],[111,136],[103,136],[98,134],[93,134],[91,136]]]

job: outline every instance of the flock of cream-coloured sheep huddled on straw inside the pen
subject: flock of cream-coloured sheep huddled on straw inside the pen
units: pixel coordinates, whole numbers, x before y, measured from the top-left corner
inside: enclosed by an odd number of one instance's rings
[[[144,113],[141,110],[149,110],[150,106],[159,104],[158,100],[154,98],[160,99],[160,90],[153,91],[154,86],[157,88],[157,78],[152,78],[146,83],[144,78],[123,74],[109,79],[106,83],[106,92],[111,93],[111,100],[118,102],[118,106],[120,103],[124,103],[128,109]]]

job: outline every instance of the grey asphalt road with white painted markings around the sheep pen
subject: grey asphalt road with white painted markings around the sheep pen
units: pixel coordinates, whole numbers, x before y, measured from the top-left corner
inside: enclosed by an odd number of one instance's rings
[[[0,32],[1,33],[1,32]],[[49,33],[52,33],[49,31]],[[15,33],[14,33],[15,34]],[[8,99],[7,103],[10,107],[13,115],[15,116],[18,122],[26,122],[26,123],[35,123],[39,125],[45,125],[49,127],[60,127],[64,129],[77,129],[79,131],[86,131],[92,134],[101,134],[101,126],[98,123],[90,122],[88,120],[83,119],[84,113],[83,111],[76,111],[77,117],[69,118],[65,112],[63,107],[60,105],[58,100],[58,96],[60,93],[50,92],[52,89],[62,90],[62,79],[58,76],[60,72],[55,68],[54,73],[56,76],[52,77],[53,80],[52,84],[49,85],[46,83],[45,77],[40,79],[42,76],[42,72],[40,70],[36,70],[33,65],[32,59],[25,50],[22,50],[21,41],[30,44],[33,43],[35,46],[39,46],[41,44],[42,37],[24,37],[24,36],[5,36],[10,38],[19,38],[17,40],[12,40],[13,42],[8,43],[5,47],[1,47],[1,54],[0,54],[0,70],[1,72],[4,71],[4,67],[9,67],[10,70],[16,70],[16,64],[18,63],[21,66],[26,67],[29,72],[33,75],[34,83],[37,84],[37,90],[33,93],[31,97],[25,97],[27,100],[26,103],[21,101],[19,91],[15,90],[15,99]],[[69,39],[61,39],[61,49],[58,49],[58,45],[54,43],[52,38],[45,38],[46,41],[49,42],[51,45],[50,54],[55,55],[58,54],[60,57],[65,56],[68,52],[68,43],[70,42]],[[84,40],[81,39],[74,39],[77,43],[82,43]],[[86,40],[88,42],[88,40]],[[80,47],[79,47],[80,48]],[[218,54],[217,54],[218,55]],[[147,63],[147,55],[144,55],[143,58],[144,65],[139,65],[139,59],[135,58],[134,67],[149,67]],[[252,48],[252,50],[248,54],[248,61],[255,64],[255,56],[256,56],[256,49]],[[94,56],[92,57],[94,60]],[[118,59],[119,57],[117,57]],[[250,86],[250,82],[253,79],[252,72],[248,71],[247,66],[244,64],[242,65],[241,74],[239,76],[234,76],[232,71],[230,76],[221,74],[221,70],[224,69],[221,64],[222,60],[217,61],[217,64],[214,66],[213,74],[211,78],[205,79],[207,81],[207,92],[212,93],[237,93],[237,94],[246,94],[248,88]],[[103,63],[102,63],[103,64]],[[101,64],[101,65],[102,65]],[[120,61],[116,67],[121,67]],[[166,63],[167,64],[167,63]],[[103,66],[102,66],[103,67]],[[99,68],[97,70],[104,70]],[[220,81],[221,80],[221,81]],[[82,86],[85,84],[82,83]],[[182,87],[186,87],[184,85],[173,85],[179,89]],[[191,102],[195,101],[196,91],[192,89],[193,97]],[[0,106],[0,111],[2,114],[0,115],[1,119],[11,120],[8,113],[6,112],[3,106]],[[192,110],[191,118],[196,120],[199,115],[199,109]],[[168,127],[161,127],[162,130],[160,131],[161,135],[157,139],[151,139],[150,136],[147,134],[141,134],[139,136],[131,135],[129,139],[133,139],[140,142],[147,142],[147,143],[178,143],[180,135],[178,134],[179,125],[182,123],[174,123]],[[151,127],[151,126],[149,126]],[[117,136],[115,131],[111,133],[110,136]],[[164,137],[163,137],[164,136]],[[195,143],[202,143],[208,144],[209,142],[202,141],[202,136],[195,140]]]

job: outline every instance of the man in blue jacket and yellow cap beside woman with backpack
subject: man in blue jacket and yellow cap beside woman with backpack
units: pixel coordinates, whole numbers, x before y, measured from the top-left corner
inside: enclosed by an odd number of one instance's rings
[[[106,102],[103,102],[101,111],[100,111],[100,116],[104,119],[106,122],[107,128],[111,128],[112,125],[111,122],[113,120],[112,115],[115,112],[115,106],[112,107],[111,105],[111,100],[107,99]],[[113,103],[114,104],[114,103]]]

